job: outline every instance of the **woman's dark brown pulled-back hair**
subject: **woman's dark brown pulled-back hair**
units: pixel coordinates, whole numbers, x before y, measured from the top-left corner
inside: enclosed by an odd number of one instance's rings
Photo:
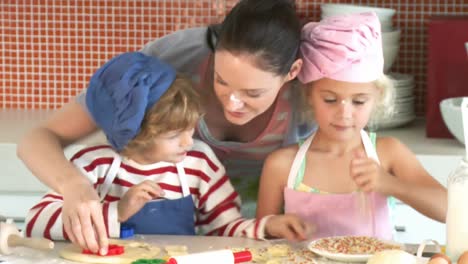
[[[292,0],[241,0],[207,31],[213,51],[256,56],[257,66],[286,75],[296,60],[301,23]]]

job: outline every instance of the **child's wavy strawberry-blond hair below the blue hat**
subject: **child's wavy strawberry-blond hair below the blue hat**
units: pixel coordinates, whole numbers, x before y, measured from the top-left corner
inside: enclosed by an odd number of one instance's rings
[[[198,93],[189,79],[178,75],[161,98],[146,112],[140,132],[122,150],[123,155],[151,148],[154,138],[170,131],[192,129],[202,116]]]

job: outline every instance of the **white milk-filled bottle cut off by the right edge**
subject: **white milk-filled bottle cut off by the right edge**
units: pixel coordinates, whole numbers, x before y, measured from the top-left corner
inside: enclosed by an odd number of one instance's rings
[[[468,161],[448,177],[447,255],[454,263],[468,250]]]

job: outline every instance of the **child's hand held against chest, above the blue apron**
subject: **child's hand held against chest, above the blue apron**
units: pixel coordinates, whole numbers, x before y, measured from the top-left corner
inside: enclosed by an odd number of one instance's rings
[[[117,206],[119,210],[119,222],[127,221],[132,215],[155,198],[164,197],[164,191],[154,181],[144,181],[132,186],[120,199]]]

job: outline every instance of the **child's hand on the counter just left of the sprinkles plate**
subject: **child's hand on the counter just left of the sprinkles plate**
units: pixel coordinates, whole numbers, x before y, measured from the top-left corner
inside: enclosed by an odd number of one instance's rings
[[[265,224],[265,233],[276,238],[285,238],[289,241],[303,241],[315,231],[315,226],[302,221],[292,214],[275,215]]]

